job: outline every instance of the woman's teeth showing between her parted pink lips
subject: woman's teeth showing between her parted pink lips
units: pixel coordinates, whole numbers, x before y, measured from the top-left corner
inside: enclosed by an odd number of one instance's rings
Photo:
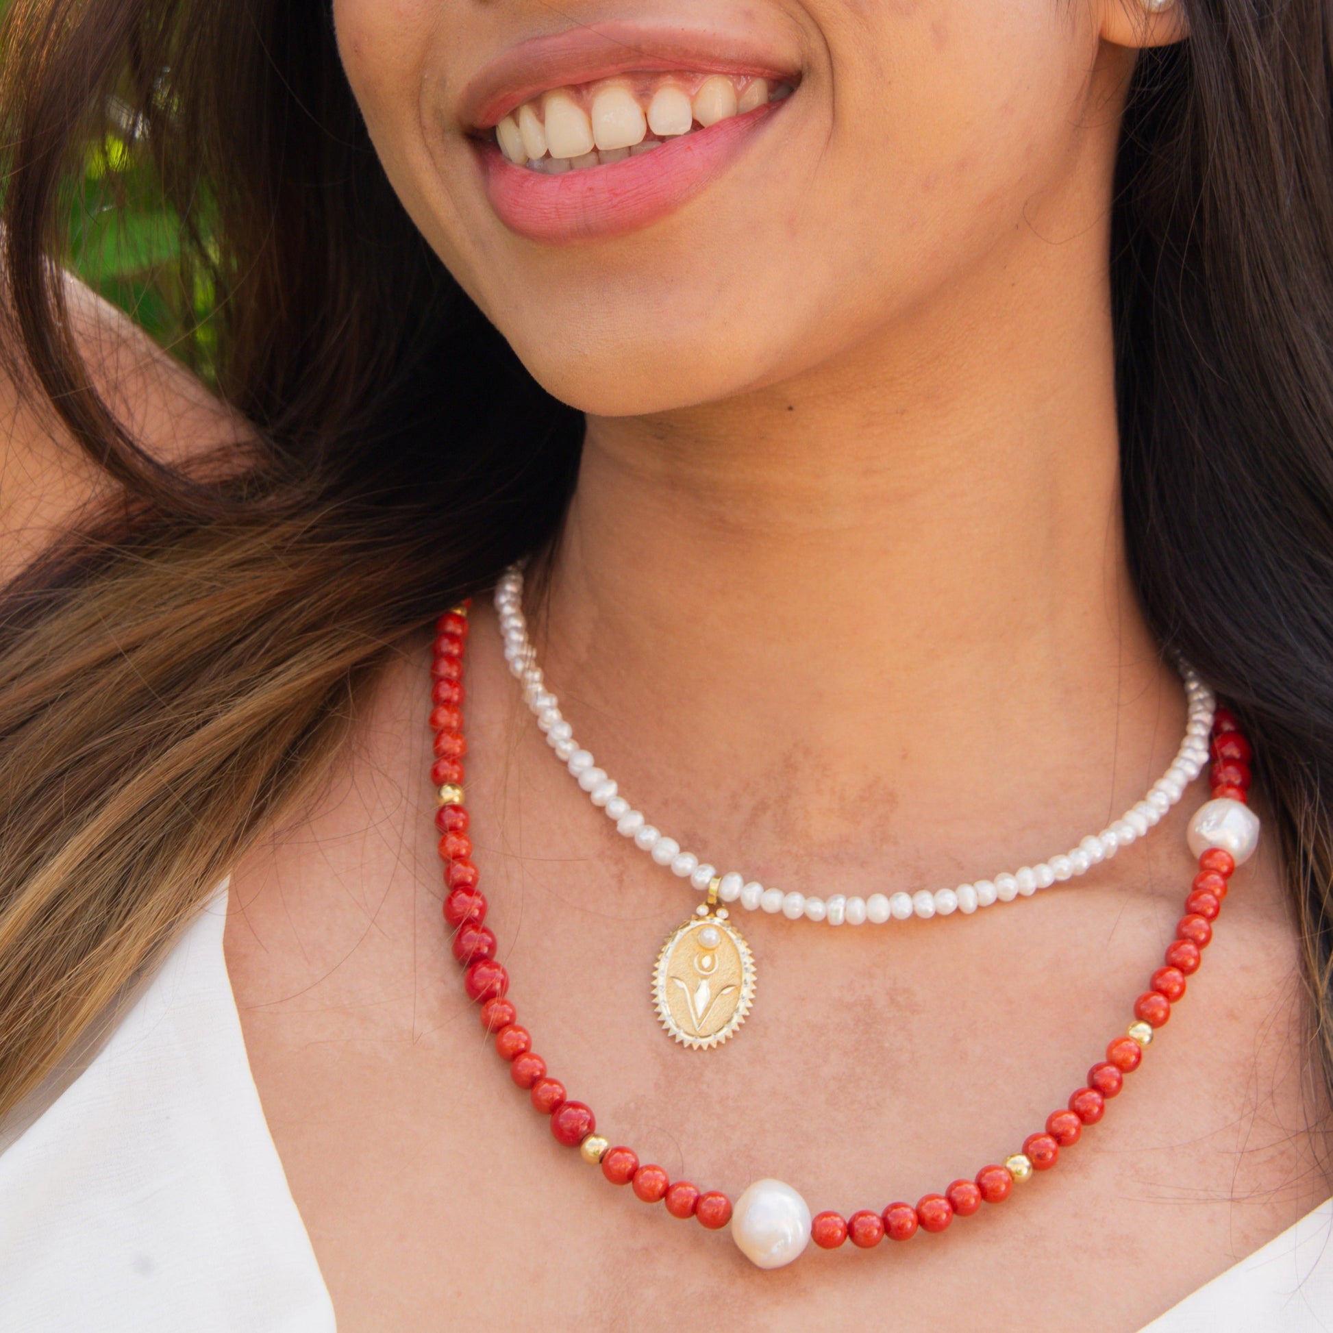
[[[792,91],[792,83],[750,75],[628,72],[531,97],[488,137],[513,165],[556,176],[641,156]]]

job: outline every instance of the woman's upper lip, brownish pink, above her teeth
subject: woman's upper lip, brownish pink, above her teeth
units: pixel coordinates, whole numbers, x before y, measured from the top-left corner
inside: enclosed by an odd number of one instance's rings
[[[583,24],[511,47],[477,73],[459,103],[459,120],[491,129],[515,107],[551,88],[631,71],[690,69],[794,83],[797,71],[740,33],[632,23]]]

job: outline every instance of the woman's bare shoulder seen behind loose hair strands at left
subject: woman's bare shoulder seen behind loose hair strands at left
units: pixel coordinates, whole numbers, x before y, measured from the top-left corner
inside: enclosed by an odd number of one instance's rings
[[[153,457],[189,469],[219,448],[245,449],[244,419],[132,320],[73,277],[65,300],[93,385]],[[0,361],[0,584],[109,496],[40,388]]]

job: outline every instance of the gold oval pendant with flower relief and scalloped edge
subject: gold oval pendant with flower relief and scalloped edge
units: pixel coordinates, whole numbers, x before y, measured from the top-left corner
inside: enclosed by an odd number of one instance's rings
[[[745,1021],[754,1001],[754,956],[726,908],[692,917],[657,954],[653,1001],[661,1025],[690,1050],[712,1050]]]

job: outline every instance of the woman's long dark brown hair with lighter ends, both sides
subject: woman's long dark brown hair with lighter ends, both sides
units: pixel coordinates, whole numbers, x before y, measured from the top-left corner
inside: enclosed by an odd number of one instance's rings
[[[1258,741],[1333,1086],[1333,13],[1181,3],[1114,204],[1128,537],[1164,648]],[[128,499],[3,600],[0,1110],[308,789],[396,647],[549,540],[581,439],[400,208],[327,0],[11,0],[3,43],[5,349]],[[255,435],[221,480],[129,437],[64,316],[65,185],[113,96],[216,292]]]

